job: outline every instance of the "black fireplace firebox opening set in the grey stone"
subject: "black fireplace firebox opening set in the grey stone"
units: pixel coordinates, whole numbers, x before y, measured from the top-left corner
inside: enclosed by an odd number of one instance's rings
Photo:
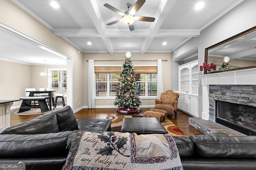
[[[216,122],[255,136],[256,107],[216,100]]]

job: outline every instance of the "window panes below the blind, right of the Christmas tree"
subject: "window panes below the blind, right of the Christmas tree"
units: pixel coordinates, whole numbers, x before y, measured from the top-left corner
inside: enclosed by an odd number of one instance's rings
[[[156,96],[157,74],[136,74],[140,96]]]

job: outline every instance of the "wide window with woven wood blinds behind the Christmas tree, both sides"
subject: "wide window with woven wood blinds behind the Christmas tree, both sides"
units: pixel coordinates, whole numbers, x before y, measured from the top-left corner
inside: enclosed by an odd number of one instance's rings
[[[121,66],[95,66],[96,97],[116,96]],[[138,92],[140,96],[156,96],[157,94],[157,67],[134,66],[136,72]]]

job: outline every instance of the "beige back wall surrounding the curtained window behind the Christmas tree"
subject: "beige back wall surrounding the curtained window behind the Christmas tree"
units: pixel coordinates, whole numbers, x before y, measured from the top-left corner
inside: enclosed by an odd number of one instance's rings
[[[114,53],[113,55],[109,53],[84,53],[83,60],[83,68],[84,68],[84,106],[88,106],[88,60],[94,59],[94,64],[102,65],[102,64],[119,64],[122,65],[125,59],[125,53]],[[171,87],[171,55],[170,53],[145,53],[144,55],[140,53],[132,53],[131,60],[167,60],[167,62],[162,62],[163,66],[163,84],[164,84],[164,92],[166,90],[172,89]],[[104,60],[104,62],[97,62],[96,60]],[[109,61],[108,60],[121,60],[121,61]],[[155,65],[154,62],[135,62],[132,61],[133,65]],[[178,76],[178,75],[177,75]],[[154,105],[155,99],[142,99],[142,107],[148,105]],[[98,99],[95,101],[95,106],[104,107],[104,106],[113,106],[114,107],[114,99]]]

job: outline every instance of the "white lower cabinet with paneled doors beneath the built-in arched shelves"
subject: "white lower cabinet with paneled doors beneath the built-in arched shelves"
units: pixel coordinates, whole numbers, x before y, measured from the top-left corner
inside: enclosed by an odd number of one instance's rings
[[[179,93],[178,109],[192,115],[193,117],[199,117],[198,115],[198,96]]]

